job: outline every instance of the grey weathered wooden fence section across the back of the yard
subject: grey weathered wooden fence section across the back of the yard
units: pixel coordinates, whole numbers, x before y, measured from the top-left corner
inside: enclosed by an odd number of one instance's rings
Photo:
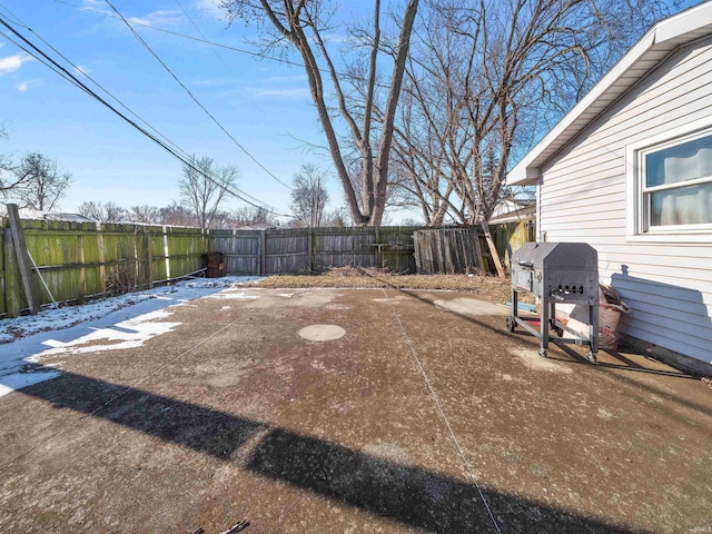
[[[211,230],[211,250],[230,275],[312,273],[328,267],[414,271],[413,231],[423,227]]]

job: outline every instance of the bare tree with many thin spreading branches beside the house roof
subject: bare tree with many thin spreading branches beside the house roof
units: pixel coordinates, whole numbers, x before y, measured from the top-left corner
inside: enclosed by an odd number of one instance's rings
[[[426,222],[486,221],[522,157],[657,18],[664,0],[427,0],[394,166]]]

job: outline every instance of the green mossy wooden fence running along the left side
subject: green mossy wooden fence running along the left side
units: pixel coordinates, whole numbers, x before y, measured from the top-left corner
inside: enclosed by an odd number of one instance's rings
[[[198,228],[20,221],[40,303],[81,301],[169,281],[204,267],[208,236]],[[9,219],[2,219],[0,317],[28,308]],[[49,289],[49,293],[48,293]],[[51,297],[50,297],[51,293]]]

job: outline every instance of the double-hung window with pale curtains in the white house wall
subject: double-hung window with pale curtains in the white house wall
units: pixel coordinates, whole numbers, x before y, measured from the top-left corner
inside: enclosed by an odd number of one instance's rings
[[[712,131],[637,151],[637,231],[712,229]]]

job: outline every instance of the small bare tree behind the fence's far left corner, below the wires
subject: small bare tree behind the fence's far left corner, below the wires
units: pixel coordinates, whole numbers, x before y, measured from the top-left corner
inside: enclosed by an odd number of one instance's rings
[[[239,177],[239,170],[235,166],[216,166],[208,157],[199,160],[194,157],[192,162],[184,164],[178,188],[184,206],[195,214],[198,226],[205,230],[210,228],[215,214]]]

